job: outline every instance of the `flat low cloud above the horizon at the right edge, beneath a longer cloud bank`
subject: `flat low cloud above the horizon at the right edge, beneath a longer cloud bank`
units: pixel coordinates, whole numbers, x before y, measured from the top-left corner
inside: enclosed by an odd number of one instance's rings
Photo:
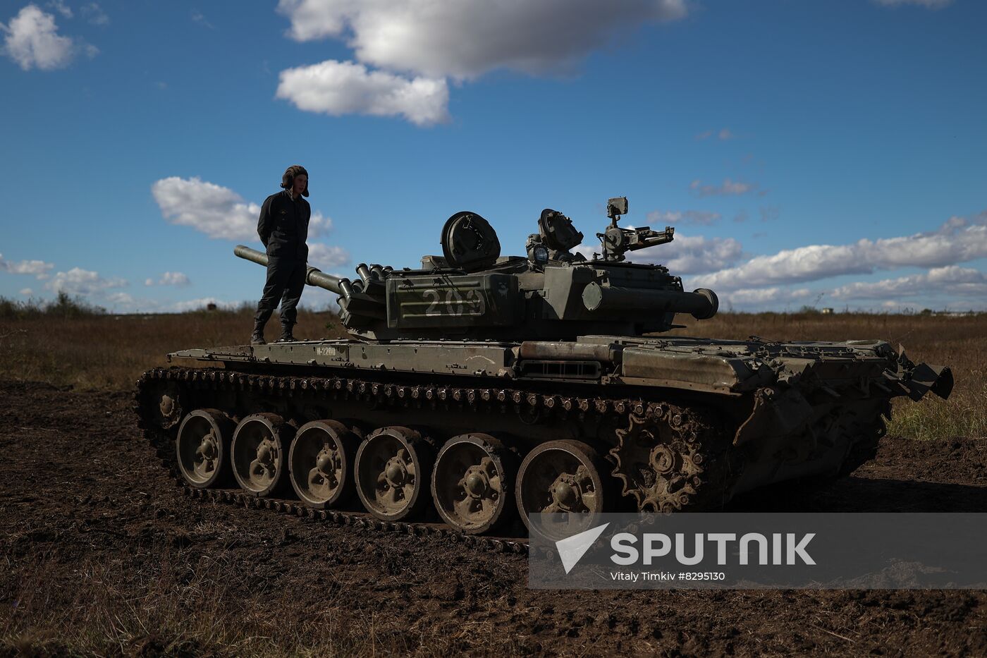
[[[987,275],[972,268],[949,265],[944,268],[933,268],[925,274],[873,283],[854,283],[836,288],[832,292],[832,295],[839,299],[940,297],[944,294],[987,299]]]

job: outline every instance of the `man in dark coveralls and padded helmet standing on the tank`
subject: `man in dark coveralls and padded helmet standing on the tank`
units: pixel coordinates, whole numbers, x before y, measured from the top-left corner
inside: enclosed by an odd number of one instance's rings
[[[270,314],[281,302],[281,336],[278,342],[295,340],[292,327],[298,316],[296,307],[305,288],[305,268],[308,262],[308,224],[312,207],[308,197],[308,172],[301,165],[292,165],[281,177],[282,192],[273,194],[261,207],[257,233],[267,251],[267,282],[254,316],[252,345],[264,345],[264,326]]]

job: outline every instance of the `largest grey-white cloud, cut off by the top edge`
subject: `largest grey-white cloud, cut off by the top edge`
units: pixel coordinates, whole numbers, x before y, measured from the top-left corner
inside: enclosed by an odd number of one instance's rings
[[[555,72],[685,0],[281,0],[297,41],[346,39],[358,61],[431,78]]]

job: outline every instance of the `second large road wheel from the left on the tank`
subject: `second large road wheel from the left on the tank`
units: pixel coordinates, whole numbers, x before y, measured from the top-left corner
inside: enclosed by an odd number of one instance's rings
[[[233,435],[233,475],[247,493],[264,498],[288,480],[288,449],[294,428],[269,413],[247,416]]]

